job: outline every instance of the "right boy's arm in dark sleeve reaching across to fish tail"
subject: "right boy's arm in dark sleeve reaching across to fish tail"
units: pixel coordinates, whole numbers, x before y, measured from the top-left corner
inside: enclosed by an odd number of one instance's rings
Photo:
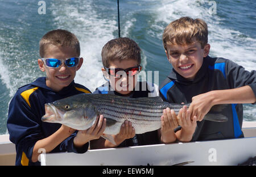
[[[224,78],[230,89],[213,90],[205,94],[200,94],[192,98],[192,116],[197,116],[197,120],[203,120],[210,108],[216,104],[242,104],[255,103],[256,96],[256,71],[246,71],[235,62],[225,60]]]

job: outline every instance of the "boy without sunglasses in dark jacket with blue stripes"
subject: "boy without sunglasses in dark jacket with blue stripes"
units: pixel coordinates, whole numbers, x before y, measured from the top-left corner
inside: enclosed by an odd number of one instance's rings
[[[164,29],[163,44],[173,69],[160,85],[160,96],[170,103],[191,103],[189,118],[197,120],[191,127],[179,122],[177,140],[243,137],[242,103],[255,103],[255,70],[249,72],[225,58],[209,57],[207,24],[201,19],[183,17],[171,22]],[[223,110],[227,122],[203,120],[216,104],[228,104]]]

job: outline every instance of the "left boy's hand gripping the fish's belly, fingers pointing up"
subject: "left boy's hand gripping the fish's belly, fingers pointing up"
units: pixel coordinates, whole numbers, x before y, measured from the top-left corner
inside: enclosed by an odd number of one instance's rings
[[[90,140],[95,140],[102,136],[104,130],[106,128],[106,119],[104,119],[103,115],[97,116],[95,123],[86,130],[79,130],[77,132],[76,137],[74,138],[74,144],[76,147],[80,147],[84,145],[86,142]]]

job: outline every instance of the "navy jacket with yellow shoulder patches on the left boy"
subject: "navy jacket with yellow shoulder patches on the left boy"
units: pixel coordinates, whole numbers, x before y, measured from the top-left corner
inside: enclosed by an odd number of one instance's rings
[[[10,141],[16,147],[15,165],[40,165],[40,162],[31,161],[36,141],[50,136],[61,127],[61,124],[58,123],[41,121],[41,117],[45,114],[44,104],[84,92],[90,93],[88,88],[74,81],[59,92],[55,92],[46,86],[45,77],[38,78],[35,82],[18,89],[10,102],[7,120]],[[73,138],[76,133],[61,142],[51,153],[64,151],[85,153],[88,149],[88,143],[80,149],[73,146]]]

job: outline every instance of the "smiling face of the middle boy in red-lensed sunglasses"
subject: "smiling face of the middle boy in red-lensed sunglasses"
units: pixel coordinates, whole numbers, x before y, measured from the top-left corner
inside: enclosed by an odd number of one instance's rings
[[[138,66],[136,60],[123,60],[121,62],[118,60],[114,60],[109,62],[109,68],[127,69],[134,66]],[[114,88],[114,90],[117,91],[119,94],[122,94],[124,96],[130,95],[137,83],[137,75],[128,76],[124,71],[121,71],[120,74],[123,73],[123,75],[121,75],[120,77],[112,77],[106,73],[106,70],[104,68],[102,68],[102,72],[104,73],[105,77],[109,79],[111,87]]]

